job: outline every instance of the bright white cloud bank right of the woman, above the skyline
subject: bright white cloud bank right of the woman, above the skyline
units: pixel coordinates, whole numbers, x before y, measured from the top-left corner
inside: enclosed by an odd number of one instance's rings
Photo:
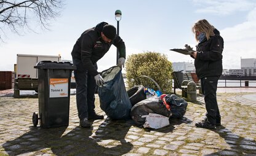
[[[256,58],[256,7],[247,15],[247,21],[221,30],[225,41],[223,66],[241,68],[240,58]]]

